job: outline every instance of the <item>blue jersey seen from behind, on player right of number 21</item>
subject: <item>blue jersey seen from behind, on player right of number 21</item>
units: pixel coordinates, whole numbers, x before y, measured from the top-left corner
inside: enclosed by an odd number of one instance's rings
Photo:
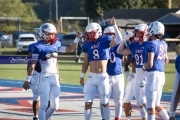
[[[154,53],[153,66],[147,71],[164,72],[165,57],[167,54],[167,43],[164,40],[154,40],[149,45],[149,51]]]

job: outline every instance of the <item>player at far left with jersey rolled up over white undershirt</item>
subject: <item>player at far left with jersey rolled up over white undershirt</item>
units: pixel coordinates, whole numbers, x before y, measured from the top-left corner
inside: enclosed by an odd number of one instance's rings
[[[77,32],[74,42],[69,47],[63,47],[56,37],[57,30],[53,24],[45,23],[42,24],[40,28],[42,40],[32,47],[32,60],[29,64],[23,88],[25,90],[29,89],[32,73],[37,61],[39,61],[41,65],[41,75],[39,80],[40,108],[38,117],[40,120],[49,120],[55,110],[59,108],[60,84],[57,63],[58,52],[72,52],[76,48],[81,34]],[[47,109],[49,100],[50,107]]]

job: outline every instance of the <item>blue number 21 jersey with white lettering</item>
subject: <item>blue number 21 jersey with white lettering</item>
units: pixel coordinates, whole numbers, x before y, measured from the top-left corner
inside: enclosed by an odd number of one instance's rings
[[[133,42],[129,45],[129,49],[132,52],[132,57],[136,61],[136,68],[142,68],[147,62],[147,46],[149,42],[143,42],[141,45],[138,42]]]

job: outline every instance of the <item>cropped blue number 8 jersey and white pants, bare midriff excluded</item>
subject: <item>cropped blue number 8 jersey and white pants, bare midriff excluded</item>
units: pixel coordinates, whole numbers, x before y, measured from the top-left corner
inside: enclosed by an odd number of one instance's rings
[[[83,52],[88,54],[88,60],[108,60],[109,59],[109,44],[112,38],[104,35],[94,42],[86,41],[83,46]],[[100,103],[108,103],[109,94],[109,76],[107,72],[92,73],[88,75],[88,79],[84,85],[84,100],[85,102],[93,102],[96,91],[99,91]]]

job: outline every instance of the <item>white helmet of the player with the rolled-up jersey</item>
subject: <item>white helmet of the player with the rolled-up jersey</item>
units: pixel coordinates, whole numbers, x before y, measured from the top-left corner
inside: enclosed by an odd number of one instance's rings
[[[48,40],[48,38],[47,38],[47,35],[49,33],[53,33],[55,35],[57,34],[56,27],[53,24],[44,23],[44,24],[41,25],[40,30],[41,30],[41,38],[42,38],[42,40],[50,41],[51,43],[54,43],[57,40],[57,37],[54,37],[51,40]]]

